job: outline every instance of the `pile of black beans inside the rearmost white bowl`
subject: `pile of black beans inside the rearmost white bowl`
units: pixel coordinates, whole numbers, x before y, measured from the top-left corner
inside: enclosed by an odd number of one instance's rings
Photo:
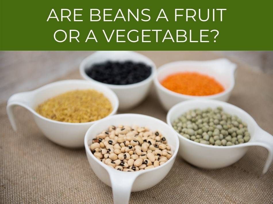
[[[141,62],[111,62],[93,64],[85,70],[92,79],[114,85],[134,84],[151,75],[151,67]]]

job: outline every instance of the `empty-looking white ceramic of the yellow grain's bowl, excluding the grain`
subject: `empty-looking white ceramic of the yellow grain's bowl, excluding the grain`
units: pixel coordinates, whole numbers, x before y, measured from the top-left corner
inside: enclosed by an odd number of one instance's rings
[[[87,123],[60,122],[43,117],[35,111],[35,108],[47,99],[76,89],[95,89],[103,93],[113,107],[113,111],[106,117],[116,113],[118,109],[118,97],[107,87],[85,80],[58,81],[34,91],[16,93],[9,98],[7,102],[7,114],[14,131],[17,128],[15,123],[16,114],[14,114],[13,108],[15,105],[20,105],[32,113],[34,121],[49,140],[68,148],[83,147],[84,135],[88,128],[96,121]]]

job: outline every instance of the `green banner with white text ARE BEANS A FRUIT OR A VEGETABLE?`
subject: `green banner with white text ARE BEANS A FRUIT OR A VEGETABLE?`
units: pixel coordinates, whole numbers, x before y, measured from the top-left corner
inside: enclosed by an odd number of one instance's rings
[[[273,50],[272,10],[269,0],[1,0],[0,50]]]

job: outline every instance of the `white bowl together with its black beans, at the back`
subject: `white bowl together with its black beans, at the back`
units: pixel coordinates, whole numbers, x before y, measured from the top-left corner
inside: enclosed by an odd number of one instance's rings
[[[119,110],[130,109],[143,101],[155,72],[151,59],[132,51],[98,51],[80,64],[83,79],[103,84],[116,93]]]

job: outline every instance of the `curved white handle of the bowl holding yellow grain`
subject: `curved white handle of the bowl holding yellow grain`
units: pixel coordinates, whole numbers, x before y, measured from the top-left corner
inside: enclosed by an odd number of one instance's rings
[[[30,102],[32,100],[32,92],[22,92],[22,93],[16,93],[9,97],[9,100],[7,101],[7,115],[9,117],[9,122],[11,123],[12,129],[14,131],[17,131],[16,121],[14,117],[14,106],[20,105],[29,111],[33,111],[32,108],[30,108]]]

